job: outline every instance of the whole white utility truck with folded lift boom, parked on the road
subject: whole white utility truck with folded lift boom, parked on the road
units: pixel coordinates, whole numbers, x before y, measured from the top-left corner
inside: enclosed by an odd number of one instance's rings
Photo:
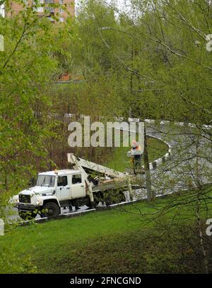
[[[24,220],[56,217],[62,207],[111,205],[126,201],[126,191],[138,189],[139,185],[125,173],[83,160],[68,154],[70,170],[39,172],[35,187],[14,196],[15,206]]]

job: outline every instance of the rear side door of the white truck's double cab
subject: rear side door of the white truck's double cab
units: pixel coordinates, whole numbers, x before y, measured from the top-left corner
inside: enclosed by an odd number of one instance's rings
[[[81,174],[73,174],[71,179],[71,198],[81,198],[86,196],[86,183]]]

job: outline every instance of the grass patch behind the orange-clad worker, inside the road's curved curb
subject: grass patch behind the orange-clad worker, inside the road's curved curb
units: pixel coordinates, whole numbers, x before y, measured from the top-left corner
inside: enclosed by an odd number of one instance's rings
[[[156,138],[148,137],[148,157],[149,161],[153,162],[154,160],[162,157],[165,153],[168,152],[168,146],[162,140]],[[124,172],[126,168],[131,167],[129,157],[126,157],[126,153],[130,150],[130,147],[117,147],[114,148],[114,152],[111,157],[105,162],[105,166],[112,168],[114,170]],[[142,160],[143,165],[143,160]]]

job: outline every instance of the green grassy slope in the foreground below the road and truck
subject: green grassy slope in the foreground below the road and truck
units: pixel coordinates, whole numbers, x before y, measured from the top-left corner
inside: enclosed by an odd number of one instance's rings
[[[194,197],[192,193],[191,197]],[[206,193],[211,195],[209,190]],[[0,247],[1,250],[9,249],[17,257],[30,255],[37,272],[44,273],[157,272],[160,270],[158,261],[166,272],[184,270],[184,265],[176,264],[176,261],[178,257],[182,261],[184,249],[189,250],[187,244],[183,248],[180,246],[172,257],[173,249],[177,249],[182,239],[175,236],[171,240],[172,235],[166,238],[159,236],[158,220],[163,220],[163,224],[169,223],[177,211],[178,219],[183,223],[185,214],[193,210],[193,204],[179,205],[180,213],[179,208],[173,210],[170,206],[164,215],[148,214],[160,211],[173,201],[180,204],[188,195],[187,192],[156,199],[151,204],[142,201],[115,210],[14,228],[0,238]],[[208,209],[212,214],[211,203]],[[204,211],[202,216],[206,218]],[[193,220],[194,216],[189,217],[189,221],[186,218],[185,223],[188,225]],[[162,253],[165,250],[167,255]],[[153,258],[152,253],[156,253]],[[159,260],[156,260],[157,257]],[[166,267],[165,257],[172,262],[169,267]],[[187,269],[191,269],[191,264],[188,263]]]

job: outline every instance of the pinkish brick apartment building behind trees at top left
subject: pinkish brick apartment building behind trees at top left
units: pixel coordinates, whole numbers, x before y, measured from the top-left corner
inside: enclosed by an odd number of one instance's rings
[[[54,4],[56,6],[54,6]],[[58,16],[59,22],[64,22],[67,17],[75,15],[74,0],[39,0],[38,4],[34,4],[33,0],[25,0],[26,6],[34,6],[34,11],[38,15],[45,15],[50,21],[54,23],[52,16]],[[21,4],[10,1],[8,12],[5,9],[5,16],[12,17],[19,11],[25,9]]]

